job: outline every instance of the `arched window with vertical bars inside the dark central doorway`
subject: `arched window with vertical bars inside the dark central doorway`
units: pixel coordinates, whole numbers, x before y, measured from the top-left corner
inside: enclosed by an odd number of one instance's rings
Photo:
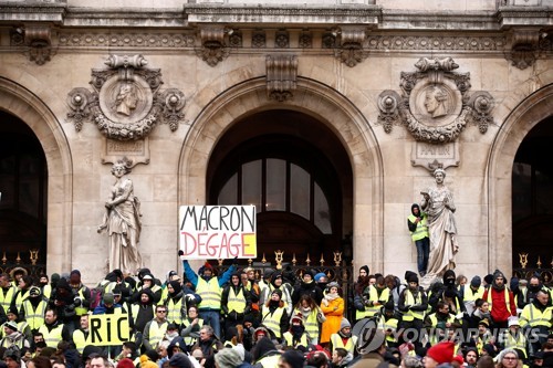
[[[241,162],[223,183],[218,204],[254,204],[258,212],[301,215],[332,234],[330,201],[316,176],[291,159],[264,157]]]

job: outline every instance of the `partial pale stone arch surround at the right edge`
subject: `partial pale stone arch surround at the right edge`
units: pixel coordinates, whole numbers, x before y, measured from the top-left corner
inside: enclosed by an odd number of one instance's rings
[[[528,133],[553,113],[553,84],[526,98],[499,129],[488,161],[490,198],[488,270],[500,269],[511,274],[512,254],[512,168],[514,156]],[[508,255],[508,256],[505,256]]]

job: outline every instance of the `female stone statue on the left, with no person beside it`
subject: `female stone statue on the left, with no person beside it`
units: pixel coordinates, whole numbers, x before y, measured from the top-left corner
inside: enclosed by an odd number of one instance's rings
[[[134,274],[142,267],[138,253],[140,238],[140,202],[134,196],[133,181],[125,175],[131,172],[131,161],[117,160],[112,167],[116,178],[109,199],[105,202],[106,212],[98,232],[107,230],[109,238],[109,271],[119,269]]]

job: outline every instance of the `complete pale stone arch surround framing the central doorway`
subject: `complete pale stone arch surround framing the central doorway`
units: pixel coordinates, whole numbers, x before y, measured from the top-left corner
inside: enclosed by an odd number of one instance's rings
[[[336,134],[349,156],[354,176],[355,265],[369,264],[383,270],[383,215],[375,215],[382,214],[384,207],[383,159],[375,134],[349,99],[313,80],[299,77],[294,97],[285,103],[267,97],[264,77],[237,84],[209,102],[192,122],[180,153],[179,203],[207,202],[207,166],[218,139],[241,117],[272,108],[311,115]]]

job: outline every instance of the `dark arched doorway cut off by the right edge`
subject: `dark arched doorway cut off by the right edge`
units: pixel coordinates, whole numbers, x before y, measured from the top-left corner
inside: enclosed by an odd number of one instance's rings
[[[535,125],[524,137],[512,170],[513,267],[520,267],[519,254],[528,254],[529,267],[540,260],[542,267],[552,262],[553,243],[553,116]]]

